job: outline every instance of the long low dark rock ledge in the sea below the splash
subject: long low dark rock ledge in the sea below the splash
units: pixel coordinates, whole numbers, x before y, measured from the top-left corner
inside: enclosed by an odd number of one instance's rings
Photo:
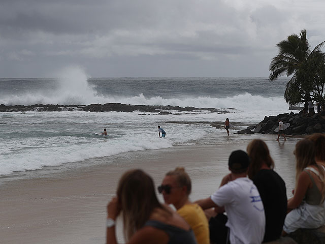
[[[229,108],[233,109],[233,108]],[[88,112],[157,112],[160,114],[171,114],[166,110],[184,111],[184,112],[196,112],[207,111],[210,113],[227,113],[226,110],[216,108],[195,108],[195,107],[178,107],[178,106],[151,106],[151,105],[132,105],[121,103],[106,103],[106,104],[90,104],[90,105],[53,105],[53,104],[35,104],[35,105],[14,105],[6,106],[0,105],[0,112],[26,112],[26,111],[88,111]]]

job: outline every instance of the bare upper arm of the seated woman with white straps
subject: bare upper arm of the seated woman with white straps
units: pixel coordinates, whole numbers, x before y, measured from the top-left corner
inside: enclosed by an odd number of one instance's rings
[[[297,189],[293,198],[288,200],[288,210],[297,208],[304,199],[308,188],[311,185],[311,180],[306,172],[301,172],[298,178]]]

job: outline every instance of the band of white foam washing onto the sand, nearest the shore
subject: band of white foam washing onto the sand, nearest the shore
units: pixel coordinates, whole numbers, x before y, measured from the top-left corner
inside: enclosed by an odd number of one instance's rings
[[[43,143],[30,141],[27,143],[11,144],[15,151],[0,151],[0,175],[12,174],[15,171],[37,170],[45,166],[58,166],[69,162],[78,162],[96,157],[108,157],[127,151],[152,150],[168,148],[191,140],[202,138],[206,133],[199,129],[186,130],[185,126],[172,125],[168,130],[167,138],[157,138],[158,131],[142,130],[133,132],[132,136],[120,135],[87,139],[73,139],[70,137],[44,139]],[[64,138],[64,139],[62,139]],[[56,140],[56,141],[55,141]],[[74,144],[74,143],[75,144]],[[26,145],[27,144],[27,145]],[[36,144],[42,148],[35,147]],[[60,146],[57,146],[61,144]],[[23,147],[27,148],[23,148]],[[33,146],[33,147],[32,147]]]

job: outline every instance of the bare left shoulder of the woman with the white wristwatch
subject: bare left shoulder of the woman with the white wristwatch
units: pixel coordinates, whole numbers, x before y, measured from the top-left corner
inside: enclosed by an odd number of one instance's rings
[[[140,244],[140,243],[157,243],[167,244],[169,241],[168,234],[152,226],[145,226],[137,231],[132,238],[127,242],[128,244]]]

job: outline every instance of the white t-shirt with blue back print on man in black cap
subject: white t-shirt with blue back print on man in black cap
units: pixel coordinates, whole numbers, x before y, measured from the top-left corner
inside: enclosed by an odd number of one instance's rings
[[[264,206],[256,186],[241,177],[220,187],[211,200],[224,206],[230,228],[230,243],[260,244],[265,232]]]

